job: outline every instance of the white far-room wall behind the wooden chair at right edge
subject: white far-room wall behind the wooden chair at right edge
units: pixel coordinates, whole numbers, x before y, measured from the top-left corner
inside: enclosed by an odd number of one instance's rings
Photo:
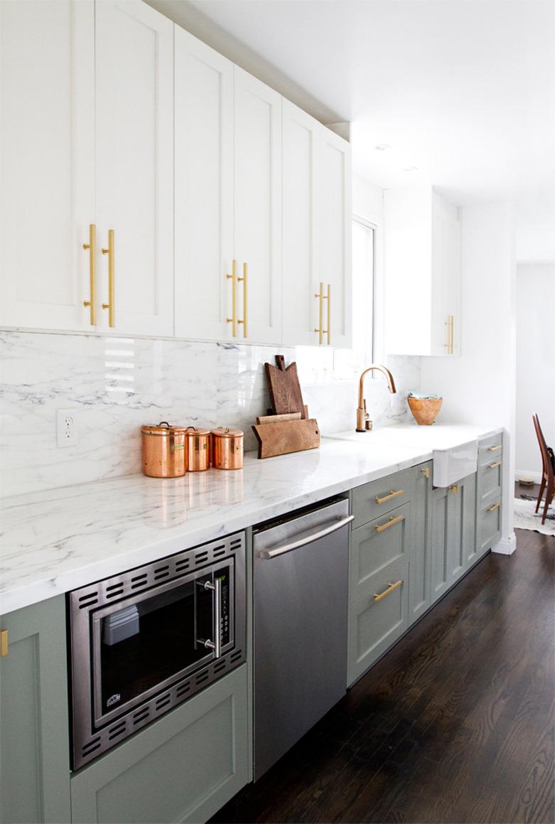
[[[555,263],[518,265],[516,296],[516,477],[539,481],[534,412],[555,444]]]

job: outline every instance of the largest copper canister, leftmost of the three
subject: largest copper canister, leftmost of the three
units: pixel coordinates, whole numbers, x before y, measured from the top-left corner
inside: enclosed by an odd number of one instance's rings
[[[141,428],[143,473],[151,478],[179,478],[187,471],[186,429],[162,420]]]

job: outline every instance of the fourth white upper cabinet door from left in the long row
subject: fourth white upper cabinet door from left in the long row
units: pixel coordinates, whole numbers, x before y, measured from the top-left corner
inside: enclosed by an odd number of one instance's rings
[[[279,344],[281,96],[238,66],[234,78],[234,257],[245,279],[235,286],[232,334]]]

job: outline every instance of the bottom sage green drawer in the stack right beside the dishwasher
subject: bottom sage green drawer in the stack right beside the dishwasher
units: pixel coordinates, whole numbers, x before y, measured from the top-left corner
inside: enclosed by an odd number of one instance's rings
[[[402,583],[393,588],[399,581]],[[376,600],[374,595],[383,597]],[[351,602],[350,684],[407,629],[407,608],[408,564],[405,559],[396,559],[372,575],[366,582],[365,594]]]

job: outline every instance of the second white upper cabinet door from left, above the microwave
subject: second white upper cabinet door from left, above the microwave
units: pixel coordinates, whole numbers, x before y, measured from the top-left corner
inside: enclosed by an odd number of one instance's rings
[[[95,8],[98,322],[172,335],[173,24],[139,0]]]

